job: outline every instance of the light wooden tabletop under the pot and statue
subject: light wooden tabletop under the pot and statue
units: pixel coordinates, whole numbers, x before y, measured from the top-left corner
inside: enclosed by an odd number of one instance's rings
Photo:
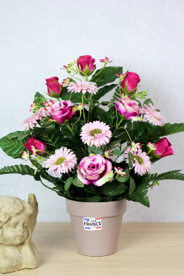
[[[32,242],[39,267],[9,275],[184,275],[184,223],[123,223],[117,252],[105,257],[77,253],[70,223],[37,223]]]

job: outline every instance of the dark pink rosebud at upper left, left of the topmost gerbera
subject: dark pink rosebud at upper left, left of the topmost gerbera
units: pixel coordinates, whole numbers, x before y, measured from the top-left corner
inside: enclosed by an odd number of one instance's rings
[[[45,79],[47,81],[46,86],[48,86],[48,94],[53,98],[61,97],[63,93],[63,86],[58,82],[58,77],[52,77],[50,79]]]

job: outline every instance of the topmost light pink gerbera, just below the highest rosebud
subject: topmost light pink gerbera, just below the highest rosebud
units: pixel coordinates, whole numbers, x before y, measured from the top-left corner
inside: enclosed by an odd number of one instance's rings
[[[96,83],[92,81],[76,81],[76,83],[70,82],[67,89],[68,92],[82,92],[83,94],[88,91],[89,93],[94,93],[96,95],[96,92],[98,92]]]

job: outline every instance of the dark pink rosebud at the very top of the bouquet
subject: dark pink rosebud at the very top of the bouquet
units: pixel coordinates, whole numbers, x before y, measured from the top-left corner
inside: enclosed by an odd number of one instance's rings
[[[80,56],[77,61],[77,66],[79,69],[85,73],[85,75],[90,76],[92,72],[96,69],[96,65],[93,64],[95,62],[95,59],[93,59],[89,55]]]

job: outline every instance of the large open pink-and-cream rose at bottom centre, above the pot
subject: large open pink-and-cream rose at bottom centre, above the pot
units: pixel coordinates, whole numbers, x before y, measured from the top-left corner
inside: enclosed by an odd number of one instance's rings
[[[85,185],[91,182],[96,186],[102,186],[112,177],[112,164],[101,155],[84,157],[79,163],[77,177]]]

